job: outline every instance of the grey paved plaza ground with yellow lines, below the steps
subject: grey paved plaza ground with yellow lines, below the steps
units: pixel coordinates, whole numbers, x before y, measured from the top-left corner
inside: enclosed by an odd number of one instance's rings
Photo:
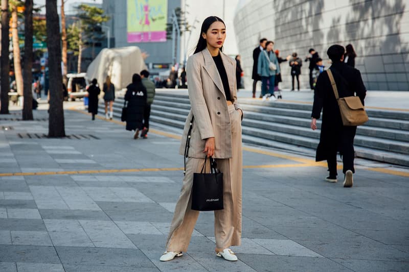
[[[34,116],[0,115],[0,271],[409,270],[406,168],[358,160],[347,189],[311,157],[244,146],[239,261],[215,256],[203,212],[188,253],[163,263],[179,135],[133,140],[119,121],[67,110],[66,134],[81,139],[37,138],[47,112]]]

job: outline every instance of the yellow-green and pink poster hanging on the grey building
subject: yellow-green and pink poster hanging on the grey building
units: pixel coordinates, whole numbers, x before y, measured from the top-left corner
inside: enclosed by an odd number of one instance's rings
[[[166,41],[167,0],[127,0],[128,42]]]

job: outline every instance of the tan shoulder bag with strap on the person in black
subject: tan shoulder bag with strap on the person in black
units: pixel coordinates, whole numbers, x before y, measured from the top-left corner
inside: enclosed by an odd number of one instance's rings
[[[327,70],[344,126],[360,126],[369,120],[359,96],[339,97],[331,69]]]

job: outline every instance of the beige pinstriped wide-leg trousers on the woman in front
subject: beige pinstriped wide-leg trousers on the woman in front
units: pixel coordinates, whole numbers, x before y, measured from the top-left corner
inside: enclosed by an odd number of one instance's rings
[[[217,168],[223,173],[223,210],[214,211],[214,232],[216,250],[240,245],[241,242],[241,182],[242,182],[242,149],[241,117],[234,106],[229,106],[232,123],[232,158],[217,159]],[[186,175],[173,214],[172,224],[166,251],[187,252],[189,242],[196,225],[199,211],[191,209],[193,173],[200,172],[204,159],[188,158]],[[206,166],[210,170],[209,163]]]

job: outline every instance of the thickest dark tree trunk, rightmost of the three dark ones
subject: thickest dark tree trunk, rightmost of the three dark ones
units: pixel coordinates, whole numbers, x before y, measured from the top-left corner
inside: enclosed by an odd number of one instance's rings
[[[61,75],[61,36],[57,0],[46,1],[47,40],[49,52],[50,110],[49,137],[65,137]]]

